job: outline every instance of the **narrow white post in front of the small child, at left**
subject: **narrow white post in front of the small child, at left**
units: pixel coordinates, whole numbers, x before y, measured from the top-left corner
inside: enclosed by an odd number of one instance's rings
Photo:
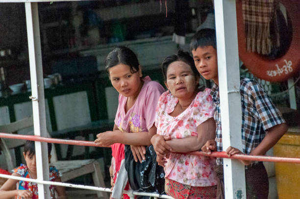
[[[34,135],[47,137],[41,38],[37,2],[25,2]],[[49,180],[47,143],[35,142],[37,179]],[[39,199],[50,199],[49,185],[38,184]]]

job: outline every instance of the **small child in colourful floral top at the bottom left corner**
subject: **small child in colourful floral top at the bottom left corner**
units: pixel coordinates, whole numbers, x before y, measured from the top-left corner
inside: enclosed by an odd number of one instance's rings
[[[48,155],[49,160],[51,158],[50,155],[51,144],[48,144]],[[36,159],[35,159],[35,144],[33,141],[26,141],[23,152],[26,165],[21,164],[20,167],[17,167],[12,172],[14,176],[18,177],[26,177],[36,179]],[[61,174],[58,170],[50,166],[49,167],[50,181],[61,182]],[[17,184],[17,190],[13,190],[15,185]],[[58,198],[55,197],[55,192],[58,195]],[[67,199],[65,189],[61,186],[53,186],[50,185],[50,194],[51,199]],[[38,187],[35,182],[27,182],[27,181],[19,181],[15,179],[8,179],[3,186],[0,188],[0,196],[1,199],[38,199]]]

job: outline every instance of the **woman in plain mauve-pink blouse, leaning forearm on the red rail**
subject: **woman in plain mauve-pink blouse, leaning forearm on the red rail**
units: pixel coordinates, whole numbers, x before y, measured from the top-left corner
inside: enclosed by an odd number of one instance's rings
[[[119,92],[119,105],[113,131],[99,133],[95,143],[112,146],[116,172],[122,171],[122,178],[126,178],[124,174],[127,171],[133,190],[161,193],[164,191],[164,172],[157,165],[150,139],[156,134],[154,120],[157,101],[165,90],[159,83],[151,81],[149,76],[142,77],[136,55],[126,47],[112,50],[105,64],[110,81]],[[124,156],[125,162],[122,164]],[[119,174],[114,190],[119,186]],[[123,188],[124,183],[118,187]],[[119,197],[113,192],[112,198]]]

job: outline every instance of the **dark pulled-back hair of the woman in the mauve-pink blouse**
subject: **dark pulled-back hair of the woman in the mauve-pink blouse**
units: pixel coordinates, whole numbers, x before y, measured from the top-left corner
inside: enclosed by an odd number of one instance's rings
[[[109,69],[118,64],[128,65],[131,73],[139,71],[139,61],[135,53],[127,47],[119,46],[108,53],[105,59],[106,73],[109,75]]]

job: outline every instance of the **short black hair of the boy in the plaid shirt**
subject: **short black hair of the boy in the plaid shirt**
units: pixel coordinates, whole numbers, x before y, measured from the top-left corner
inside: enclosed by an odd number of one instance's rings
[[[203,28],[197,31],[192,37],[190,43],[190,50],[196,50],[198,47],[203,48],[212,46],[217,50],[216,30],[210,28]]]

